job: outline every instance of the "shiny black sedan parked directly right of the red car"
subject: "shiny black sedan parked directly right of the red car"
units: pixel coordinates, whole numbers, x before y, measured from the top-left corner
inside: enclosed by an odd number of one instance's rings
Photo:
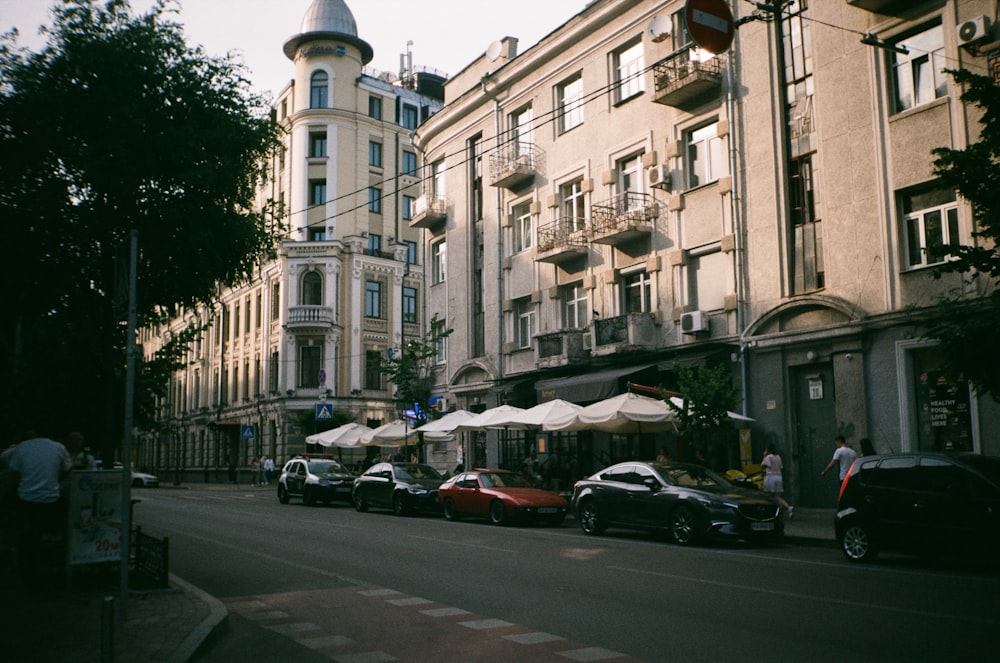
[[[781,506],[700,465],[629,461],[581,479],[573,510],[587,534],[608,527],[663,531],[681,545],[706,538],[774,541]]]

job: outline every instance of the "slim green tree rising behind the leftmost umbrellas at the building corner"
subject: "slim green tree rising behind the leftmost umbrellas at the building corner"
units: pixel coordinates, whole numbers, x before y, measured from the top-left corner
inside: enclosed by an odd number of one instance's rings
[[[437,358],[442,344],[453,331],[444,329],[435,314],[426,336],[409,339],[401,350],[392,351],[382,358],[382,372],[396,387],[396,402],[400,410],[416,405],[425,415],[433,411],[430,398],[437,380]]]

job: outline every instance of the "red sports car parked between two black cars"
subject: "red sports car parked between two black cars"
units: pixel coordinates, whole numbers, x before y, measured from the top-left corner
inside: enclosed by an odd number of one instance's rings
[[[538,520],[561,525],[569,504],[558,494],[535,488],[508,470],[461,472],[438,489],[444,517],[489,518],[494,525]]]

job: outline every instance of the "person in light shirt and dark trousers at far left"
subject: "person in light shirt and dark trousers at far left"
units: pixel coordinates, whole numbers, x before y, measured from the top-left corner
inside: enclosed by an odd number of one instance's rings
[[[59,442],[28,431],[8,455],[6,462],[17,486],[18,564],[27,582],[47,585],[61,580],[65,552],[52,549],[52,541],[64,541],[66,503],[61,483],[72,468],[69,451]],[[45,542],[49,542],[48,546]]]

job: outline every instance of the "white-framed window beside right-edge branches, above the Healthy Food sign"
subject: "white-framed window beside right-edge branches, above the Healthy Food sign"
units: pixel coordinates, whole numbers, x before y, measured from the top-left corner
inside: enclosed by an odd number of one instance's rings
[[[907,267],[943,262],[958,245],[958,203],[954,189],[922,187],[900,194]]]

